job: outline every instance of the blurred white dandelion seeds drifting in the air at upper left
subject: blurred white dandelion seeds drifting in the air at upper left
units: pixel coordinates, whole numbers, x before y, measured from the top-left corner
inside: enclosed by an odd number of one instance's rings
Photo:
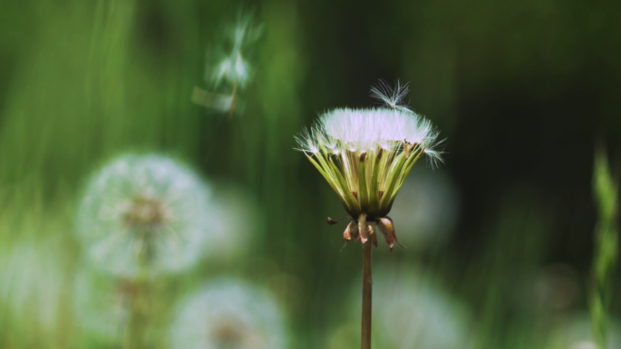
[[[240,10],[237,20],[226,23],[220,37],[207,49],[205,81],[212,91],[194,87],[193,101],[220,112],[242,111],[238,94],[247,88],[254,70],[250,63],[264,25],[255,22],[253,11]]]

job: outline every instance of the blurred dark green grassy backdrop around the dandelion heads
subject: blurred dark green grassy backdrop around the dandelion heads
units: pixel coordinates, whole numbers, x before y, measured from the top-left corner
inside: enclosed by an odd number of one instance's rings
[[[240,4],[2,1],[3,251],[24,238],[25,222],[38,222],[43,228],[26,235],[58,234],[71,270],[80,253],[71,215],[89,173],[129,150],[175,155],[205,178],[240,186],[266,222],[247,259],[204,274],[261,282],[272,271],[254,261],[268,258],[295,280],[279,295],[293,342],[321,347],[325,320],[360,275],[360,245],[339,252],[344,225],[328,226],[325,217],[344,211],[293,150],[293,136],[325,109],[372,106],[369,88],[399,78],[410,81],[410,106],[448,138],[437,171],[455,181],[461,211],[445,245],[392,254],[381,245],[375,260],[433,271],[471,307],[483,348],[537,347],[533,323],[543,315],[510,302],[512,280],[527,271],[571,266],[582,292],[567,311],[586,309],[596,143],[606,145],[617,173],[621,163],[621,2],[245,6],[265,35],[252,55],[255,78],[240,93],[246,108],[229,119],[190,96],[194,86],[209,88],[206,48]],[[48,219],[62,228],[45,229]],[[13,324],[0,316],[0,343],[39,343],[19,339],[36,330]],[[66,343],[69,328],[52,342]]]

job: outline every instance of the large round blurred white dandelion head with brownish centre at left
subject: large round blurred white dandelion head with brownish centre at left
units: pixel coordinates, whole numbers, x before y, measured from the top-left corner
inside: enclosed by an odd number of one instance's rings
[[[211,188],[160,155],[124,155],[89,182],[76,230],[94,266],[134,278],[193,266],[209,237]]]

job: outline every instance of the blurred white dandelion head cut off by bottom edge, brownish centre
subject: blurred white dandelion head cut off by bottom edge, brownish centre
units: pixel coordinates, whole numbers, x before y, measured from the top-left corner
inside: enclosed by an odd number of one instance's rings
[[[210,281],[180,302],[170,329],[177,349],[281,349],[288,339],[270,293],[246,281]]]

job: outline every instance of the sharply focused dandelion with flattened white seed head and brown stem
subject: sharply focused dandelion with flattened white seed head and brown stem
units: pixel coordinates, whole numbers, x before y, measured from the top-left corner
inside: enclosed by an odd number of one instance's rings
[[[402,104],[406,93],[407,86],[390,89],[383,84],[371,94],[386,106],[324,112],[296,137],[298,150],[324,176],[352,219],[343,232],[345,243],[351,238],[363,243],[363,348],[371,346],[371,244],[367,242],[371,239],[377,245],[375,225],[379,225],[392,249],[397,238],[388,213],[407,174],[424,154],[432,165],[442,161],[439,132]],[[328,219],[329,224],[336,222]]]

